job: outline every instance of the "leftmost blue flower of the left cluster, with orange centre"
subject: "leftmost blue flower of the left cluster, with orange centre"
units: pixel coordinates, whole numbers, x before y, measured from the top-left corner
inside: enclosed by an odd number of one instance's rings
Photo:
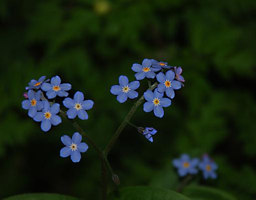
[[[33,118],[36,116],[37,111],[43,109],[43,103],[40,101],[41,91],[29,90],[27,96],[28,99],[22,102],[22,108],[29,110],[29,116]]]

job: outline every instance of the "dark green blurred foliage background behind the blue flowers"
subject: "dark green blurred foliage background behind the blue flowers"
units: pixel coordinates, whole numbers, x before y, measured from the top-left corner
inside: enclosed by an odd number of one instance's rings
[[[182,66],[185,87],[159,119],[141,106],[132,118],[158,129],[150,143],[126,127],[109,154],[121,187],[175,189],[172,159],[209,155],[218,163],[210,185],[238,199],[256,198],[256,2],[88,1],[0,2],[0,198],[55,192],[97,199],[100,167],[90,147],[80,163],[61,158],[60,137],[75,130],[64,122],[45,133],[21,108],[25,86],[59,75],[95,104],[84,130],[103,148],[133,102],[111,95],[119,75],[135,80],[133,63],[144,58]],[[140,92],[146,89],[142,82]],[[109,191],[117,187],[109,176]]]

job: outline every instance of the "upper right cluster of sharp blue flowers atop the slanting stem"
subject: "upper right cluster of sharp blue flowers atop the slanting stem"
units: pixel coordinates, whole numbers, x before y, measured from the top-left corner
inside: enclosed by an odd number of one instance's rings
[[[174,90],[180,89],[185,81],[181,75],[181,67],[169,66],[166,62],[158,62],[154,59],[144,59],[142,64],[133,64],[132,70],[136,72],[135,78],[137,81],[129,83],[129,79],[126,76],[119,77],[119,85],[113,85],[110,92],[117,95],[118,102],[123,103],[128,98],[135,99],[139,96],[135,91],[140,87],[141,80],[147,78],[155,79],[158,82],[157,88],[152,92],[147,90],[144,93],[144,98],[147,101],[144,104],[144,111],[151,112],[157,117],[162,118],[164,116],[165,107],[171,105],[171,99],[174,98]],[[164,97],[166,94],[167,98]]]

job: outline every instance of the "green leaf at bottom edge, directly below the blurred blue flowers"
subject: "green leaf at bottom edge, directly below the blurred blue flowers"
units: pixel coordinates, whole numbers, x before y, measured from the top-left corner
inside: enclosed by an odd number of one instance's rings
[[[229,193],[205,186],[188,186],[182,193],[193,200],[236,200]]]

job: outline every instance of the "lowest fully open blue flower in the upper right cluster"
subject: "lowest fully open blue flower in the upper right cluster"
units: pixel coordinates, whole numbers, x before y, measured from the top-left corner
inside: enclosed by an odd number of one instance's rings
[[[154,93],[150,90],[144,92],[144,98],[148,101],[144,104],[143,110],[145,112],[151,112],[154,110],[154,114],[157,117],[162,118],[164,116],[163,107],[168,107],[171,105],[171,100],[168,98],[163,98],[164,93],[159,93],[155,89]]]

